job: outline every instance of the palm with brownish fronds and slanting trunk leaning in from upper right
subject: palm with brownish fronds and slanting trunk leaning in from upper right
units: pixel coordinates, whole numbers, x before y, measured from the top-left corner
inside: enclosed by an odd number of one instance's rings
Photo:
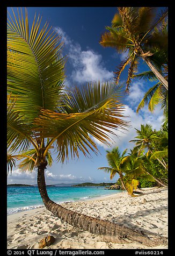
[[[157,49],[167,48],[167,33],[162,29],[166,24],[167,8],[157,15],[155,7],[118,7],[112,26],[106,26],[109,32],[101,36],[100,45],[113,47],[119,53],[128,50],[128,56],[115,72],[115,79],[118,82],[122,71],[130,65],[126,90],[129,89],[131,79],[137,72],[140,58],[147,63],[163,87],[168,90],[168,82],[162,72],[156,68],[154,60],[155,50],[157,52]]]

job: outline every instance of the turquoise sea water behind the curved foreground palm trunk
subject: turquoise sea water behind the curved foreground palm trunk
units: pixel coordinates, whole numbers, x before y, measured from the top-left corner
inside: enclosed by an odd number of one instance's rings
[[[76,202],[93,197],[120,193],[121,190],[107,190],[104,187],[47,187],[51,200],[56,203]],[[43,206],[38,187],[8,187],[8,215]]]

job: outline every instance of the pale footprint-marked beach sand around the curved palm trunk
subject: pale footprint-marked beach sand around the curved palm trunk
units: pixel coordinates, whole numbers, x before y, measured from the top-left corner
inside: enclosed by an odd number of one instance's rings
[[[147,194],[130,197],[126,192],[121,192],[62,205],[82,214],[167,237],[167,188],[148,188],[143,191]],[[38,249],[39,241],[48,235],[54,236],[55,242],[43,250],[150,248],[140,243],[103,241],[100,236],[63,222],[44,207],[8,215],[7,224],[9,249]],[[151,248],[166,249],[167,246]]]

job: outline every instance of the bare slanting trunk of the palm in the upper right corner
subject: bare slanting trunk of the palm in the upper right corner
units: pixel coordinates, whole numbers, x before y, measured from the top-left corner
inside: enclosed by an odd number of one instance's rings
[[[165,87],[166,90],[168,90],[168,82],[164,79],[164,77],[158,72],[158,70],[155,68],[154,65],[152,65],[151,61],[149,60],[149,58],[147,56],[145,56],[142,48],[140,47],[140,52],[141,52],[141,56],[143,58],[143,60],[147,63],[147,65],[150,67],[150,69],[152,70],[152,72],[155,74],[155,76],[157,77],[157,79],[163,84],[163,86]]]

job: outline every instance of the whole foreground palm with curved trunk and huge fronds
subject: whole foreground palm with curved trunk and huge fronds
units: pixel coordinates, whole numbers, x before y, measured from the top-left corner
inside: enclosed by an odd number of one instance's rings
[[[18,10],[17,10],[18,11]],[[122,227],[63,208],[50,200],[45,169],[52,164],[50,149],[57,160],[85,156],[89,150],[98,153],[92,137],[109,145],[112,129],[126,129],[122,120],[122,94],[115,83],[94,82],[67,91],[64,88],[64,64],[60,36],[48,23],[40,27],[40,16],[34,17],[31,29],[27,10],[18,19],[8,18],[8,163],[9,172],[20,162],[21,170],[37,168],[38,189],[45,207],[70,225],[100,234],[107,241],[125,243],[125,239],[148,246],[166,243],[166,239]]]

